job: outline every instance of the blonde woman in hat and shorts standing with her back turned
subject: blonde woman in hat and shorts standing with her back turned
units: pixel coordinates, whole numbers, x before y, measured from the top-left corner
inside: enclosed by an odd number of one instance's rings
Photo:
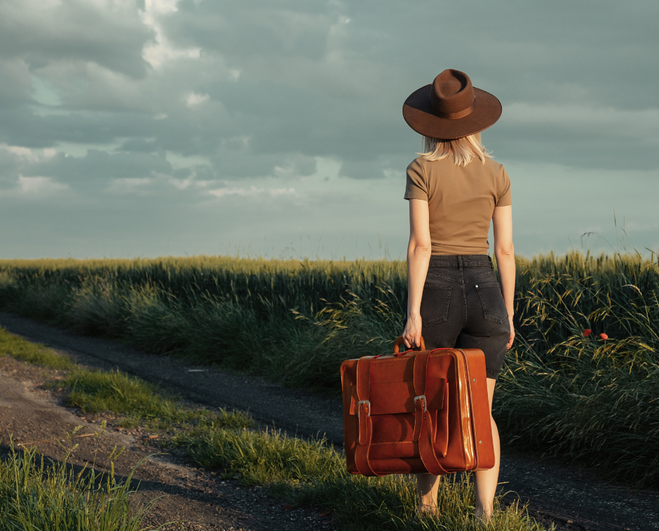
[[[515,338],[510,179],[480,142],[480,132],[501,116],[501,103],[451,69],[413,92],[403,116],[425,137],[426,153],[407,167],[409,296],[402,336],[408,348],[419,346],[421,336],[427,348],[480,348],[491,414],[503,356]],[[501,286],[487,255],[490,220]],[[493,511],[500,455],[494,419],[491,424],[495,464],[475,472],[475,514],[485,521]],[[436,511],[439,478],[416,474],[416,480],[419,513]]]

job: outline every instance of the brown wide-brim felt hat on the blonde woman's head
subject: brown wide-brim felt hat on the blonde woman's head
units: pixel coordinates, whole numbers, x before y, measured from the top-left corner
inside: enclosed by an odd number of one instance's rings
[[[407,97],[402,116],[421,135],[449,140],[493,125],[501,116],[501,102],[473,87],[464,72],[448,69]]]

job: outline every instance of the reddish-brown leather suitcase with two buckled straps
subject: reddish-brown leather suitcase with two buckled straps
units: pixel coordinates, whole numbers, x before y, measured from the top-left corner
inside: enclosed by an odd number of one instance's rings
[[[494,467],[485,357],[435,349],[341,364],[348,471],[363,476]]]

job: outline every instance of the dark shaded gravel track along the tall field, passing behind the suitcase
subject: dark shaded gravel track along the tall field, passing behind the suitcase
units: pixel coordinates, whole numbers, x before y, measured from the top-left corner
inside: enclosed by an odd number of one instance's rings
[[[285,389],[273,382],[218,369],[193,367],[173,357],[145,354],[100,338],[79,336],[31,319],[0,314],[0,326],[69,354],[80,364],[121,371],[158,383],[208,406],[249,411],[262,424],[299,436],[322,436],[342,446],[339,398]],[[529,513],[562,530],[659,530],[659,492],[605,483],[590,469],[558,460],[504,452],[499,481],[506,500],[529,502]]]

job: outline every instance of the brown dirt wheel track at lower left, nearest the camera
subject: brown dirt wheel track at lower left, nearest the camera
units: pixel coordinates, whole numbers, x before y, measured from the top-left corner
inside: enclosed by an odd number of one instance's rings
[[[128,433],[107,430],[97,446],[93,434],[101,431],[99,425],[105,415],[94,418],[62,406],[62,396],[41,387],[41,382],[54,378],[57,371],[52,369],[0,358],[0,457],[8,452],[11,434],[16,448],[37,446],[46,457],[62,460],[65,452],[58,441],[67,446],[66,434],[82,426],[71,439],[71,446],[79,444],[72,454],[76,471],[88,464],[107,472],[108,456],[115,446],[125,447],[115,462],[119,478],[128,476],[137,462],[147,458],[133,476],[133,487],[139,482],[135,504],[159,498],[144,519],[145,525],[155,528],[177,521],[163,531],[329,531],[333,528],[327,513],[291,509],[258,486],[245,487],[236,480],[224,480],[191,467],[180,455],[158,455],[162,450],[144,442],[143,437],[148,434],[141,429]]]

